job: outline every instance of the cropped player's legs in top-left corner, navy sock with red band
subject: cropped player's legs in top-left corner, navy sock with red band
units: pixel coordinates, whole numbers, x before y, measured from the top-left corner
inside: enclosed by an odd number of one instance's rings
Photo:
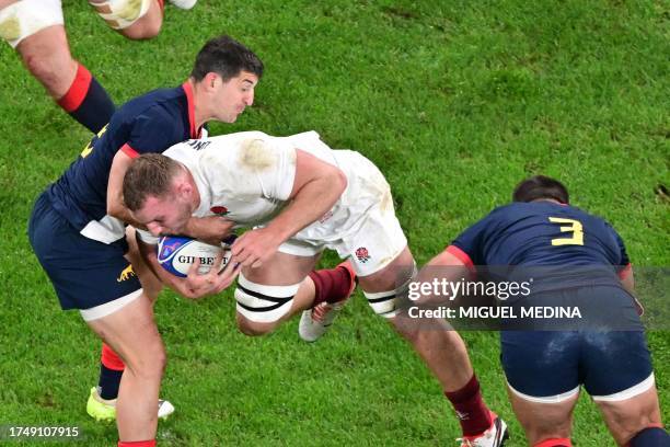
[[[197,0],[170,0],[190,9]],[[84,65],[72,58],[61,0],[0,0],[0,38],[72,118],[94,134],[109,122],[114,103]],[[107,25],[130,39],[159,34],[163,0],[89,0]]]

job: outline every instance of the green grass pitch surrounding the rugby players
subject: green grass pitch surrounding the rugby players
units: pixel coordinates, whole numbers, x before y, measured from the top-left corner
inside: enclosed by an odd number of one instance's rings
[[[63,3],[73,55],[117,103],[180,84],[213,35],[249,45],[266,64],[256,102],[212,134],[315,129],[362,152],[391,183],[421,264],[523,176],[544,173],[617,228],[636,267],[670,265],[666,1],[200,0],[166,8],[161,35],[142,43],[109,31],[85,1]],[[77,445],[115,445],[116,427],[84,408],[100,343],[78,312],[60,311],[26,237],[34,198],[90,136],[4,44],[0,70],[0,425],[76,425]],[[157,320],[170,357],[162,396],[177,408],[160,446],[457,445],[437,381],[360,293],[313,345],[297,321],[263,339],[238,333],[230,293],[193,303],[165,291]],[[508,445],[525,445],[497,334],[463,337]],[[649,342],[667,422],[669,333]],[[584,396],[573,438],[613,445]]]

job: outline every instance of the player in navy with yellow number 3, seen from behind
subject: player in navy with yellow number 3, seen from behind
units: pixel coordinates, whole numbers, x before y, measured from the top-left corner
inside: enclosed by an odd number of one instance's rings
[[[516,266],[497,273],[532,273],[528,303],[581,306],[594,310],[588,318],[612,328],[597,329],[588,319],[573,328],[579,330],[503,326],[508,393],[530,445],[571,446],[571,414],[584,387],[619,445],[670,446],[624,243],[608,222],[569,206],[568,198],[556,180],[521,182],[512,204],[461,233],[418,280],[459,280],[476,266]]]

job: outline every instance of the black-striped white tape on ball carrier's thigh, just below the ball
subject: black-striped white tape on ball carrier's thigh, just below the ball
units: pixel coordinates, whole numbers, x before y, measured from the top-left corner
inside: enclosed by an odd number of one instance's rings
[[[257,323],[277,321],[291,309],[299,287],[300,283],[292,286],[265,286],[252,283],[240,274],[235,289],[238,312]]]

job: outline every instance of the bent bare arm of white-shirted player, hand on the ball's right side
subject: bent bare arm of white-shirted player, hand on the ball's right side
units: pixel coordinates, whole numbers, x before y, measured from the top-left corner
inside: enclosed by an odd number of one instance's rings
[[[333,208],[346,187],[347,177],[339,168],[297,149],[289,204],[267,227],[238,238],[233,256],[243,266],[261,266],[282,242]]]

